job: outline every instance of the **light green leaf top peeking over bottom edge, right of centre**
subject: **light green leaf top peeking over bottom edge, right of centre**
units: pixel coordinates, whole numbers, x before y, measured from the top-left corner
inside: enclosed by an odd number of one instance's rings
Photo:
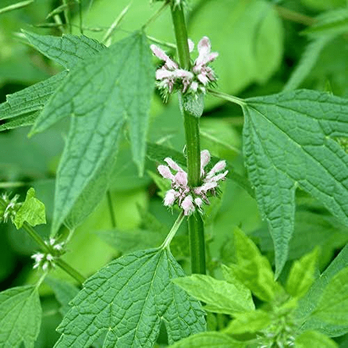
[[[244,348],[246,343],[239,342],[221,332],[203,332],[190,336],[169,346],[169,348]]]

